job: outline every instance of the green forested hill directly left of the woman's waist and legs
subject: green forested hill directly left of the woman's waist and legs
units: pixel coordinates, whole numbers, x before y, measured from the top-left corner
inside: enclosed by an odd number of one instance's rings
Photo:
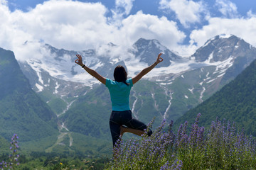
[[[111,101],[104,85],[81,96],[73,106],[60,118],[68,130],[91,137],[108,137],[111,139],[109,117]]]

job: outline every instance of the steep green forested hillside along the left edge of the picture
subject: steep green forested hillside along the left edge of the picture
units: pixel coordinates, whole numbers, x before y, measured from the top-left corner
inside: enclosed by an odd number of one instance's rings
[[[14,52],[0,48],[0,136],[21,141],[57,136],[55,115],[31,89]]]

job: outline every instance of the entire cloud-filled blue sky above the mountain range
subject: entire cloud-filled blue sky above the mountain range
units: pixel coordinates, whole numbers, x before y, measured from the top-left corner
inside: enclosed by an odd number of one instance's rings
[[[26,41],[67,50],[113,42],[123,52],[146,38],[188,56],[225,33],[256,46],[255,0],[0,0],[0,21],[0,47],[19,59],[27,56]]]

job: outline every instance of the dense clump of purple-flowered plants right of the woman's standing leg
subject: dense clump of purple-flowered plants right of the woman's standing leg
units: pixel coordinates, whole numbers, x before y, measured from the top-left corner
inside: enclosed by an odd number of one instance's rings
[[[198,114],[188,130],[181,124],[175,134],[165,121],[154,130],[151,137],[120,140],[113,149],[113,159],[105,169],[255,169],[255,140],[244,130],[236,130],[235,123],[216,120],[209,130],[200,127]],[[152,123],[149,124],[149,127]]]

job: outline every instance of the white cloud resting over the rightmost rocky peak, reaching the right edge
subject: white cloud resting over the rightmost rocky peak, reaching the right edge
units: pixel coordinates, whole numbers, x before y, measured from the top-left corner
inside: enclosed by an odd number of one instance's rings
[[[209,24],[200,30],[193,30],[190,38],[198,47],[206,40],[222,33],[236,35],[256,46],[256,17],[250,18],[210,18]]]

